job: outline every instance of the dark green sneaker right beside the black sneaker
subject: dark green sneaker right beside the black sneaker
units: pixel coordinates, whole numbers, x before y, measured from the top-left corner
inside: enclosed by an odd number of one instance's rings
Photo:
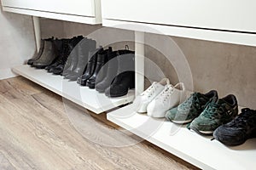
[[[196,133],[212,134],[220,125],[232,121],[238,113],[236,96],[230,94],[223,99],[212,99],[200,116],[190,124]]]

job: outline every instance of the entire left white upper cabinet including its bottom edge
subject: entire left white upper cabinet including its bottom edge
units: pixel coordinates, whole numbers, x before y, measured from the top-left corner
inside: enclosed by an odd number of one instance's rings
[[[84,24],[101,24],[100,0],[2,0],[3,11],[67,20]]]

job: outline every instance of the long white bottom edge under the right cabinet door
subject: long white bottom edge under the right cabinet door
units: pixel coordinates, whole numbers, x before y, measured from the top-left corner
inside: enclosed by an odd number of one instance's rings
[[[131,31],[143,31],[160,35],[187,37],[212,42],[225,42],[238,45],[256,46],[256,34],[232,31],[212,31],[177,26],[153,25],[133,21],[102,19],[102,26],[114,27]]]

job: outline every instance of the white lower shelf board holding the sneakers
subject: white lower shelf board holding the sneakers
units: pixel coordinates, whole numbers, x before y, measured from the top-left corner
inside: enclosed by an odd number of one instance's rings
[[[109,112],[109,121],[202,169],[254,169],[256,139],[227,147],[164,119],[137,114],[134,105]]]

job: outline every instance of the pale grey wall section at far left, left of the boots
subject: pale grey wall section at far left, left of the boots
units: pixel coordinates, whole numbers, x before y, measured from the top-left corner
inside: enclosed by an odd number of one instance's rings
[[[32,17],[3,12],[0,3],[0,79],[15,77],[11,68],[35,52]]]

